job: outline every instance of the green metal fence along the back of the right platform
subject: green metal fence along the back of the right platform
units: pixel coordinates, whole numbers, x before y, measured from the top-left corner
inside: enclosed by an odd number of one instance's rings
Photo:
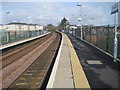
[[[120,30],[120,27],[118,28]],[[75,30],[75,35],[80,37],[81,29]],[[113,26],[84,26],[83,39],[113,55],[114,52],[114,27]],[[120,34],[118,35],[118,58],[120,58]]]

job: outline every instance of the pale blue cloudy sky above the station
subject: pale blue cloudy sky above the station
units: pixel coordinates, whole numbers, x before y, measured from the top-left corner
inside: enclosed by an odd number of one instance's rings
[[[3,2],[2,21],[28,23],[29,17],[31,23],[58,25],[60,20],[66,17],[71,24],[79,25],[77,19],[81,17],[81,9],[77,4],[82,5],[83,24],[114,24],[111,15],[114,2]],[[7,15],[7,20],[6,12],[11,12]]]

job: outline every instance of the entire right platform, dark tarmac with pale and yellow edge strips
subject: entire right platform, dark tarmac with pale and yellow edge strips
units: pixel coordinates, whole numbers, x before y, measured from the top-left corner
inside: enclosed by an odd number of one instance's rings
[[[120,89],[120,62],[78,37],[62,38],[47,88]]]

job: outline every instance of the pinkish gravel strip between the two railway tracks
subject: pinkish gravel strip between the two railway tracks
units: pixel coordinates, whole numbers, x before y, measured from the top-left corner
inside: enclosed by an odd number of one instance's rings
[[[42,43],[17,61],[1,69],[0,72],[2,72],[3,79],[2,88],[7,88],[17,77],[19,77],[19,75],[23,73],[24,70],[54,41],[55,37],[56,35],[53,34],[46,42]]]

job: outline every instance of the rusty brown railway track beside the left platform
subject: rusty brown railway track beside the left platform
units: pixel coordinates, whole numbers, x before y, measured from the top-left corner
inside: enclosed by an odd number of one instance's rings
[[[18,47],[13,47],[12,49],[8,49],[2,52],[2,68],[9,65],[10,63],[14,62],[15,60],[18,60],[28,52],[35,49],[38,45],[41,45],[47,38],[50,38],[52,34],[47,35],[43,38],[37,39],[33,42],[29,42],[23,45],[20,45]]]

